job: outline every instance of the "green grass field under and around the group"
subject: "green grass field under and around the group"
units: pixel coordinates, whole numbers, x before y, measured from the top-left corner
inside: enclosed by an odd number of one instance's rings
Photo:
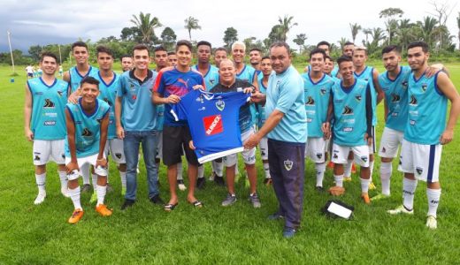
[[[300,67],[300,65],[299,65]],[[448,64],[457,88],[460,88],[460,65]],[[20,68],[20,67],[18,67]],[[382,67],[378,67],[380,71]],[[40,206],[36,195],[32,144],[23,133],[23,72],[11,83],[9,67],[0,66],[0,263],[1,264],[77,264],[77,263],[155,263],[155,264],[454,264],[460,258],[460,126],[456,139],[444,147],[441,160],[441,204],[438,230],[428,231],[426,222],[426,185],[420,182],[414,216],[389,216],[388,208],[402,202],[402,174],[392,178],[392,196],[365,206],[359,200],[356,175],[345,183],[341,197],[356,207],[354,221],[328,219],[319,209],[331,199],[314,189],[315,172],[311,163],[305,171],[303,227],[294,239],[282,239],[283,223],[267,221],[277,208],[272,188],[263,186],[263,170],[258,163],[258,193],[263,206],[254,209],[247,201],[244,181],[237,184],[239,201],[229,208],[220,202],[226,189],[207,182],[196,193],[205,203],[201,209],[186,203],[172,213],[147,200],[145,169],[139,174],[138,201],[134,208],[119,210],[121,198],[119,175],[111,166],[114,193],[106,197],[114,208],[113,216],[97,216],[89,205],[90,193],[83,193],[85,209],[80,223],[70,225],[73,211],[70,199],[59,192],[56,166],[48,167],[47,198]],[[19,72],[19,71],[18,71]],[[380,121],[383,108],[379,106]],[[383,123],[377,128],[380,138]],[[377,159],[378,160],[378,159]],[[396,161],[394,168],[396,168]],[[374,169],[374,182],[380,190],[380,163]],[[240,171],[242,163],[240,163]],[[205,176],[211,168],[206,165]],[[160,174],[161,193],[169,199],[165,167]],[[333,185],[332,171],[326,171],[325,186]],[[375,194],[372,192],[371,195]]]

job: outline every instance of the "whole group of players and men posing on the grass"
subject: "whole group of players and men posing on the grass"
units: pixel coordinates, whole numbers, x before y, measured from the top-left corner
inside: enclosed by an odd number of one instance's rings
[[[73,201],[69,223],[77,223],[83,216],[80,193],[91,189],[91,180],[94,188],[91,202],[96,202],[96,211],[101,216],[111,216],[112,209],[104,204],[105,194],[111,189],[107,163],[111,155],[119,170],[125,198],[121,210],[133,207],[142,145],[149,201],[163,205],[166,211],[178,206],[176,187],[187,189],[181,164],[181,156],[185,155],[189,178],[187,201],[193,207],[203,207],[203,202],[195,197],[196,187],[203,188],[205,184],[203,164],[199,163],[196,150],[200,148],[197,142],[206,140],[192,140],[190,127],[204,125],[203,130],[212,131],[220,120],[214,120],[209,127],[209,123],[201,120],[191,124],[190,119],[178,120],[173,115],[173,106],[180,104],[181,98],[200,89],[214,95],[239,92],[232,96],[244,94],[248,98],[240,104],[234,130],[220,127],[218,133],[241,133],[240,146],[244,149],[240,154],[249,179],[249,201],[254,208],[261,206],[255,166],[259,146],[265,184],[273,186],[279,201],[278,211],[269,219],[284,220],[285,238],[293,237],[300,227],[306,158],[315,163],[318,191],[324,190],[326,161],[331,158],[335,186],[329,193],[337,196],[345,193],[343,182],[350,179],[353,163],[359,165],[361,197],[370,204],[390,196],[392,161],[399,146],[402,146],[399,170],[404,173],[403,205],[388,213],[413,214],[414,193],[418,180],[423,180],[427,183],[428,197],[426,226],[437,227],[441,149],[453,138],[460,96],[443,65],[428,65],[429,50],[425,42],[410,43],[409,66],[401,65],[399,47],[390,45],[382,49],[387,71],[381,74],[366,65],[367,50],[351,42],[346,43],[336,62],[329,57],[329,43],[319,42],[302,74],[291,64],[290,49],[285,42],[273,43],[266,57],[261,50],[251,49],[250,65],[245,64],[243,42],[234,42],[231,59],[227,58],[226,49],[213,51],[210,42],[198,42],[194,66],[190,66],[192,48],[191,42],[180,41],[173,52],[160,46],[150,55],[149,47],[137,44],[131,55],[121,57],[123,73],[118,74],[112,70],[115,58],[110,49],[97,47],[96,68],[88,64],[87,44],[74,42],[72,53],[76,65],[63,73],[63,79],[56,78],[59,69],[56,55],[42,53],[42,76],[27,80],[25,103],[25,133],[33,141],[38,186],[35,204],[45,200],[46,163],[54,161],[58,164],[61,193]],[[212,53],[215,66],[211,64]],[[151,57],[155,70],[149,69]],[[207,99],[197,95],[202,102]],[[446,123],[448,99],[452,106]],[[382,191],[369,198],[376,152],[376,106],[382,100],[385,129],[378,151]],[[215,104],[223,114],[225,103]],[[208,148],[216,153],[226,154],[226,150],[219,149],[225,146],[223,143],[211,145]],[[167,203],[162,201],[158,190],[161,159],[167,167],[170,188]],[[214,159],[211,166],[213,181],[227,187],[222,206],[234,204],[237,154]]]

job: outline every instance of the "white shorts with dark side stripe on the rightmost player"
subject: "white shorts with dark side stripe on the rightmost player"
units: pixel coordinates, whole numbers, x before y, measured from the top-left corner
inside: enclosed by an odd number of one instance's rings
[[[399,170],[413,173],[418,180],[438,182],[441,153],[441,145],[421,145],[403,140]]]

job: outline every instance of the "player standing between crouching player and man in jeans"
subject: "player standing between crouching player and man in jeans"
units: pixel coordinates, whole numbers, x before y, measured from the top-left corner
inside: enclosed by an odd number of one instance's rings
[[[113,72],[113,52],[104,46],[96,47],[97,64],[99,72],[96,79],[99,81],[99,99],[107,102],[109,110],[109,129],[107,132],[107,143],[105,144],[105,157],[109,151],[111,158],[118,164],[119,177],[121,180],[121,194],[126,193],[126,159],[123,151],[123,140],[117,137],[117,126],[115,125],[115,101],[119,89],[119,75]],[[131,58],[131,57],[129,57]],[[93,187],[95,192],[91,196],[91,201],[96,201],[96,178],[93,175]],[[107,182],[109,176],[107,175]]]

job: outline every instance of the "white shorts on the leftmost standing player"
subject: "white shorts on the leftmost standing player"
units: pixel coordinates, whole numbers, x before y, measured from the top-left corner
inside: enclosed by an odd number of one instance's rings
[[[57,164],[65,163],[64,139],[62,140],[34,140],[34,165],[43,165],[50,160]]]

